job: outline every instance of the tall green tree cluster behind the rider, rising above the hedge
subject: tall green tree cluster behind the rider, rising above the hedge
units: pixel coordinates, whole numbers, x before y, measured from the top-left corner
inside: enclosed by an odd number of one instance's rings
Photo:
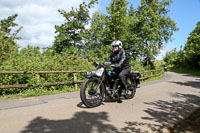
[[[91,1],[93,5],[96,1]],[[164,42],[171,40],[174,31],[178,30],[175,22],[169,17],[167,8],[172,0],[141,0],[138,8],[127,0],[112,0],[106,7],[107,14],[95,12],[90,19],[90,6],[83,3],[79,9],[66,13],[66,23],[56,26],[54,48],[56,52],[66,51],[66,47],[75,46],[78,49],[94,51],[104,50],[113,40],[121,40],[124,49],[133,59],[140,59],[146,65],[159,54]],[[80,17],[77,17],[81,13]],[[91,22],[90,22],[91,21]],[[87,24],[91,24],[86,29]],[[99,50],[97,50],[99,51]],[[97,54],[97,51],[94,53]],[[107,55],[109,50],[104,51]]]

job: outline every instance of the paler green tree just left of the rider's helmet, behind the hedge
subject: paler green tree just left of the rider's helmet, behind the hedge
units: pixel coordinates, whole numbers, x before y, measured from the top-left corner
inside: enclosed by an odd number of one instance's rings
[[[106,15],[98,11],[92,15],[89,36],[85,42],[85,58],[90,61],[102,61],[108,58],[111,47],[107,45]]]

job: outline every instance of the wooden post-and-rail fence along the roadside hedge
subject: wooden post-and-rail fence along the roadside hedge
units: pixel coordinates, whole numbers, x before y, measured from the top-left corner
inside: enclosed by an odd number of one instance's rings
[[[74,84],[74,87],[77,88],[77,84],[83,83],[84,80],[77,79],[77,73],[86,73],[87,71],[0,71],[1,74],[36,74],[37,82],[40,84],[40,75],[41,74],[59,74],[59,73],[73,73],[73,81],[65,81],[65,82],[54,82],[54,83],[43,83],[43,86],[55,86],[55,85],[69,85]],[[162,69],[159,70],[150,70],[141,72],[140,80],[146,80],[154,76],[159,76],[163,73]],[[30,85],[28,84],[14,84],[14,85],[0,85],[0,89],[6,88],[28,88]]]

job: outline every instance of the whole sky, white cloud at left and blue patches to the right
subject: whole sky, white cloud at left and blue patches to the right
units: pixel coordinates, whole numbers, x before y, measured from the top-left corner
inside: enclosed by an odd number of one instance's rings
[[[64,18],[58,13],[58,9],[66,12],[72,7],[78,7],[83,0],[0,0],[0,20],[15,13],[18,14],[16,23],[23,26],[18,36],[21,39],[18,44],[21,48],[28,44],[40,46],[40,48],[51,46],[55,36],[55,25],[64,23]],[[89,1],[89,0],[84,0]],[[99,0],[99,4],[91,10],[91,14],[99,10],[106,13],[106,7],[111,0]],[[135,8],[140,0],[128,0]],[[157,59],[162,59],[165,53],[173,48],[180,49],[184,46],[189,33],[200,21],[200,0],[173,0],[169,7],[169,16],[175,21],[179,31],[174,32],[173,41],[166,43]]]

